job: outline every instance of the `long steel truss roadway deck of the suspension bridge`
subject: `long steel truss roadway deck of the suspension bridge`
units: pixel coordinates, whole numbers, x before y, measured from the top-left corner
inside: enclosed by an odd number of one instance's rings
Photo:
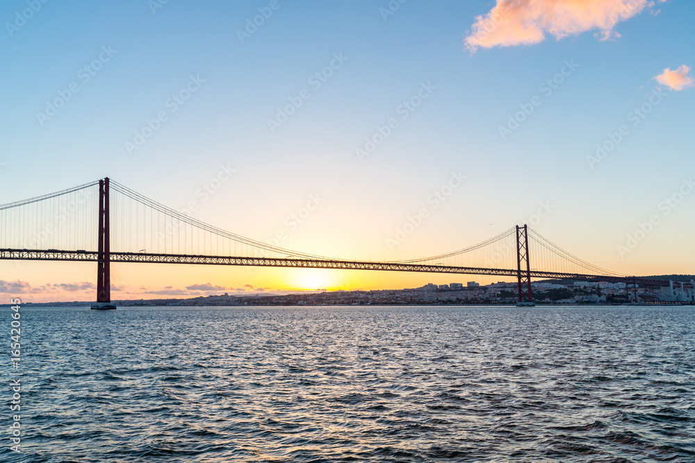
[[[295,267],[309,269],[419,271],[425,273],[461,273],[468,275],[496,275],[517,277],[516,269],[489,269],[482,267],[456,267],[441,264],[409,264],[405,262],[368,262],[360,260],[298,259],[298,258],[252,258],[222,255],[186,255],[159,253],[109,254],[111,262],[149,262],[154,264],[208,264],[242,265],[248,267]],[[97,251],[60,251],[56,249],[0,249],[0,260],[63,260],[76,262],[99,262]],[[523,273],[526,273],[522,270]],[[652,286],[669,286],[668,280],[653,280],[634,276],[587,275],[555,271],[531,270],[532,278],[601,281],[605,283],[628,283]]]

